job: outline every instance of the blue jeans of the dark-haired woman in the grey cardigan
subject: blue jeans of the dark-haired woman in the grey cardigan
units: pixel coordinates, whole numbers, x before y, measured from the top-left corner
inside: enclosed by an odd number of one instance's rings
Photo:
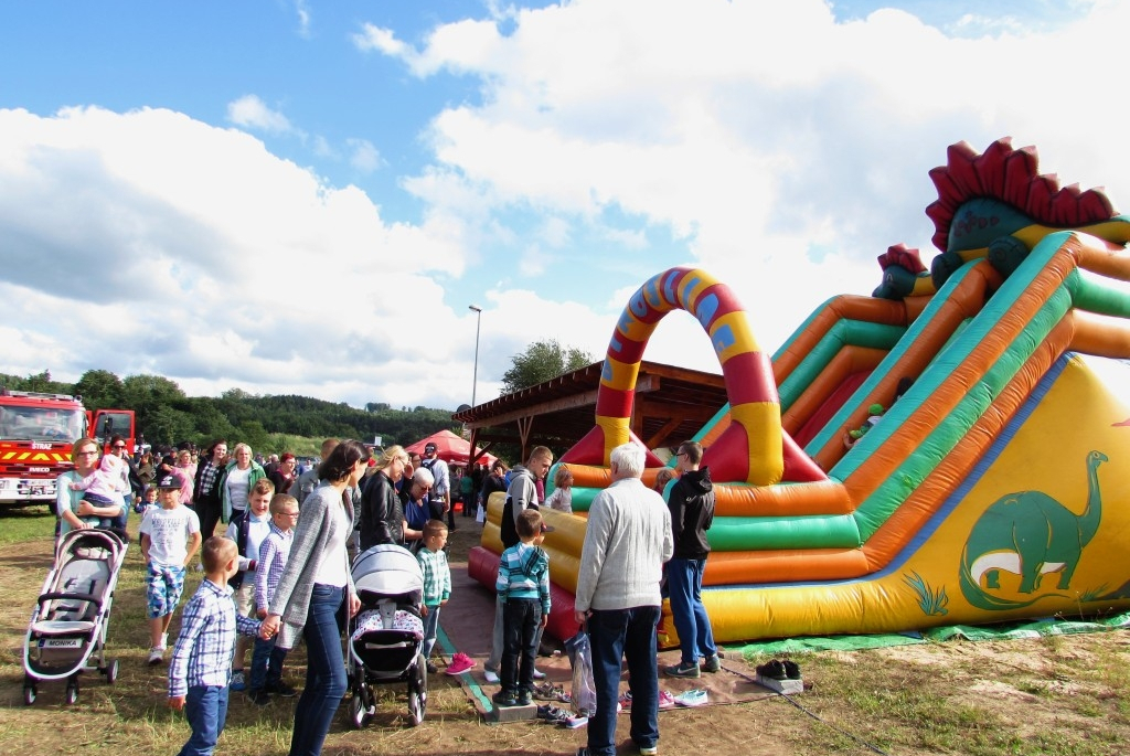
[[[290,756],[318,756],[346,694],[345,658],[337,614],[345,589],[314,585],[302,637],[306,642],[306,687],[294,712]]]

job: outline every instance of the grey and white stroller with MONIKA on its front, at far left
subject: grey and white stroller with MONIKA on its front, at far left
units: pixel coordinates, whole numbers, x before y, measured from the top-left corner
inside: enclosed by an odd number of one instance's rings
[[[27,626],[25,704],[35,703],[41,680],[66,678],[67,703],[72,704],[82,670],[96,669],[107,683],[118,678],[118,660],[106,661],[106,632],[127,548],[120,536],[101,529],[72,530],[59,540]]]

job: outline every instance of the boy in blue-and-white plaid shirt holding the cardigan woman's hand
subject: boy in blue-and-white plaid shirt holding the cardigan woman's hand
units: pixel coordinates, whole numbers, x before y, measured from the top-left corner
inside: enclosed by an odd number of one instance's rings
[[[226,538],[205,541],[205,580],[184,607],[181,635],[168,663],[168,705],[184,710],[192,736],[181,756],[210,756],[227,719],[235,635],[255,635],[259,622],[235,610],[227,579],[240,570],[240,550]]]

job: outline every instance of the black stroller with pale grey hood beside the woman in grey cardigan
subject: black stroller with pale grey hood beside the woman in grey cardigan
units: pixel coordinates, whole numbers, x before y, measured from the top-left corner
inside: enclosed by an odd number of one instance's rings
[[[424,721],[427,707],[427,666],[424,659],[424,573],[412,554],[381,544],[357,555],[354,584],[362,608],[349,620],[349,720],[366,727],[376,711],[373,685],[408,683],[412,725]]]

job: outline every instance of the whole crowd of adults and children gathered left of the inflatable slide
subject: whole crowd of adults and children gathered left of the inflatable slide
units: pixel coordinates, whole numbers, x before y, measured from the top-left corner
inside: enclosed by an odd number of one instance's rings
[[[217,440],[134,459],[114,436],[103,457],[98,443],[73,444],[72,470],[59,477],[60,532],[111,528],[124,535],[138,513],[146,563],[150,664],[165,661],[171,620],[185,574],[203,575],[185,605],[168,666],[168,701],[184,710],[192,735],[182,754],[210,754],[223,731],[229,690],[246,690],[259,705],[297,695],[282,677],[287,652],[302,640],[307,671],[295,709],[290,754],[319,754],[348,680],[341,646],[342,617],[359,608],[350,564],[359,550],[394,544],[417,555],[425,575],[424,646],[429,672],[438,617],[451,596],[446,542],[454,514],[485,520],[492,494],[505,492],[501,521],[504,553],[496,583],[492,651],[485,679],[497,684],[497,706],[529,704],[536,651],[550,610],[548,554],[551,532],[541,507],[572,513],[572,473],[558,466],[546,496],[553,452],[537,446],[524,464],[464,472],[399,445],[375,458],[357,441],[327,440],[321,462],[306,469],[294,454],[263,459],[250,446]],[[645,451],[625,444],[610,455],[612,484],[593,499],[577,576],[575,619],[592,644],[596,711],[589,745],[579,756],[615,754],[621,666],[629,672],[632,738],[641,754],[657,753],[659,674],[698,677],[720,669],[702,580],[714,515],[714,494],[703,449],[680,444],[671,480],[649,488],[641,478]],[[664,501],[666,497],[666,501]],[[218,524],[226,529],[216,533]],[[200,554],[197,564],[197,554]],[[657,664],[657,625],[669,597],[681,649],[679,663]],[[251,669],[246,669],[251,651]],[[702,664],[699,662],[702,661]]]

